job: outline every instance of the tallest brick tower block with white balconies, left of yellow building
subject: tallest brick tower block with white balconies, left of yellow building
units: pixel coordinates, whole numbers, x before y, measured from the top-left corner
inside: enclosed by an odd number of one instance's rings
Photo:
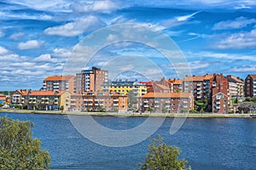
[[[90,70],[83,70],[76,74],[74,82],[75,94],[82,92],[99,92],[103,82],[108,82],[108,71],[92,67]]]

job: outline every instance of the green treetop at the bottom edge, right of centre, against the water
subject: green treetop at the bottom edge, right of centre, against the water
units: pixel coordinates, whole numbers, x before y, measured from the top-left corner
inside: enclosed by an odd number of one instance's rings
[[[145,159],[141,170],[170,170],[170,169],[191,169],[187,167],[188,161],[184,159],[178,159],[180,150],[176,146],[168,146],[163,142],[160,135],[156,138],[150,139],[151,144],[148,145],[149,153]]]

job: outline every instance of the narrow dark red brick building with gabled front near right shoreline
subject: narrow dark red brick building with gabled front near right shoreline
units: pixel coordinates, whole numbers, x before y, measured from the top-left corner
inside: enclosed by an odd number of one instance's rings
[[[229,105],[229,81],[224,75],[213,74],[210,80],[212,113],[227,113]]]

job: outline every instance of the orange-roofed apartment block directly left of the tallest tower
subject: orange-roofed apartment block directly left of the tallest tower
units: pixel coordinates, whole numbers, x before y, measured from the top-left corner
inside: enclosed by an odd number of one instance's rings
[[[74,76],[55,76],[44,79],[44,91],[68,91],[73,94]]]

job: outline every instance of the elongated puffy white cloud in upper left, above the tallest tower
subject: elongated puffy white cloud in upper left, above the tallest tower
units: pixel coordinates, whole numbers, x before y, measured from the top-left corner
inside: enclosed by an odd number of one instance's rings
[[[96,16],[90,15],[74,22],[69,22],[63,26],[49,27],[44,30],[44,33],[48,35],[74,37],[84,33],[84,31],[95,30],[100,26],[102,26],[102,22]]]

